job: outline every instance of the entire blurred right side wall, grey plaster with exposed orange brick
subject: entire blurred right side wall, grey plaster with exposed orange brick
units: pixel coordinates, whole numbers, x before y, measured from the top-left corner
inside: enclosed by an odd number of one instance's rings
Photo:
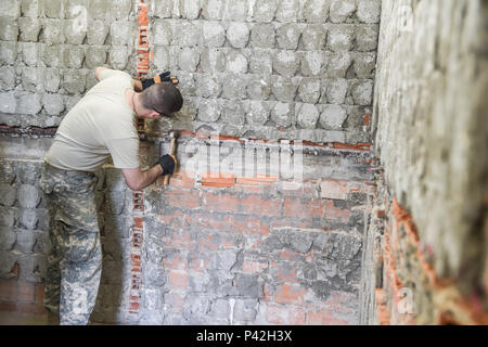
[[[485,1],[382,3],[362,322],[488,322]]]

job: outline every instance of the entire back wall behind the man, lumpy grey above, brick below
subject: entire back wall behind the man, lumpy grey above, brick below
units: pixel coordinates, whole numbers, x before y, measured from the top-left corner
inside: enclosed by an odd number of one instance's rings
[[[358,322],[380,1],[144,3],[0,4],[3,309],[42,311],[48,227],[36,178],[104,65],[180,78],[177,118],[140,125],[144,166],[167,153],[169,130],[187,131],[169,188],[134,194],[119,170],[98,172],[104,271],[93,319]],[[200,166],[195,153],[211,156],[216,143],[226,150],[217,167]],[[295,152],[298,177],[293,164],[282,169]]]

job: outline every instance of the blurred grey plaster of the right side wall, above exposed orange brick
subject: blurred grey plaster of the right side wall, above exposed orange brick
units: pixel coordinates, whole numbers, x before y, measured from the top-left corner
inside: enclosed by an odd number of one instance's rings
[[[436,275],[473,295],[487,278],[487,11],[384,0],[373,114],[389,200],[411,214]]]

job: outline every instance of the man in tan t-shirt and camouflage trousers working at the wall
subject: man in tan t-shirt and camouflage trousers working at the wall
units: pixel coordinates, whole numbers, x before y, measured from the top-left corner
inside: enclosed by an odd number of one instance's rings
[[[169,73],[139,81],[105,67],[99,82],[66,114],[44,157],[40,178],[49,209],[44,307],[49,320],[88,324],[100,285],[102,249],[94,203],[93,171],[108,156],[127,185],[139,191],[172,174],[176,158],[164,155],[149,170],[139,163],[138,118],[158,119],[182,106]]]

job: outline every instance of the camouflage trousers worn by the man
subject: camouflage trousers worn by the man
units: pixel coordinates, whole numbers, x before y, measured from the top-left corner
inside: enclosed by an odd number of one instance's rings
[[[102,271],[102,249],[94,203],[97,177],[44,164],[39,185],[49,209],[44,307],[60,324],[88,324]]]

